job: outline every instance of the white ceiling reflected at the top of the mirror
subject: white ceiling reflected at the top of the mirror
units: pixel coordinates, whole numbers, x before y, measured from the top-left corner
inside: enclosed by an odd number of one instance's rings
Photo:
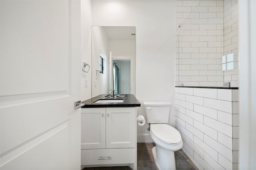
[[[104,26],[105,33],[109,40],[135,40],[136,33],[135,27],[123,27],[123,26]]]

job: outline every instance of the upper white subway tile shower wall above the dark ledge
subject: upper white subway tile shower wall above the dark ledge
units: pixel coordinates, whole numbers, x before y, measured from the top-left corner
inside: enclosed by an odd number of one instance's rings
[[[237,0],[176,0],[176,37],[176,86],[238,87]],[[230,53],[234,70],[222,71]]]

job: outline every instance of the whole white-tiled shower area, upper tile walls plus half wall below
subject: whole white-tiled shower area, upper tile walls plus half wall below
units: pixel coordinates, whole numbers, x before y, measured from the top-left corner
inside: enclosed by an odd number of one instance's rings
[[[237,169],[237,0],[176,0],[175,66],[182,150],[199,169]]]

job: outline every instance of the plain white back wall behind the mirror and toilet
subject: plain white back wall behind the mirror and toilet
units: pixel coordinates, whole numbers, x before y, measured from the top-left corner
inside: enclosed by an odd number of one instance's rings
[[[92,1],[92,25],[136,27],[138,115],[146,115],[144,101],[174,104],[175,1]],[[138,127],[139,142],[150,139],[146,127]]]

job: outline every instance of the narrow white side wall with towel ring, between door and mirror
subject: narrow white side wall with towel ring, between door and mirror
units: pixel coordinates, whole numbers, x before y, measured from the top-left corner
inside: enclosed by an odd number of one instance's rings
[[[91,50],[91,1],[81,1],[81,101],[91,98],[92,50]],[[88,73],[82,71],[83,62],[90,65]],[[87,70],[87,68],[86,68]],[[86,83],[87,82],[87,83]]]

